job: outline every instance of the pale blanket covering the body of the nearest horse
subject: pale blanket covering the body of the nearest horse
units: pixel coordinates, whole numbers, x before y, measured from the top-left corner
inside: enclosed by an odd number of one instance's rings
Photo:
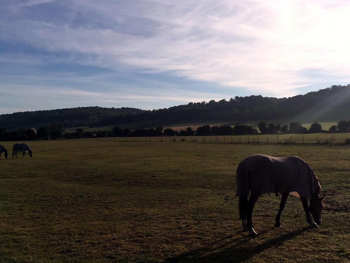
[[[241,161],[237,168],[238,196],[264,193],[284,193],[311,199],[321,185],[313,169],[297,156],[272,157],[252,155]]]

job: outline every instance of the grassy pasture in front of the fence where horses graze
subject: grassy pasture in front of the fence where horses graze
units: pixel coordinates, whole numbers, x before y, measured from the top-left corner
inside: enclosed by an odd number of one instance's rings
[[[0,142],[1,262],[344,262],[350,260],[350,148],[323,144],[33,141],[23,159]],[[296,155],[327,194],[320,228],[289,197],[241,229],[236,168],[246,156]]]

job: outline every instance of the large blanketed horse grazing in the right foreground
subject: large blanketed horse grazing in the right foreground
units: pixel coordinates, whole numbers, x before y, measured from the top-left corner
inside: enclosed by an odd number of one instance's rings
[[[279,158],[260,154],[248,156],[239,163],[236,179],[239,217],[249,235],[257,235],[252,227],[252,211],[259,195],[264,193],[275,193],[276,196],[282,194],[275,227],[281,227],[280,218],[288,195],[300,198],[306,220],[311,226],[318,227],[321,224],[322,201],[325,196],[320,198],[321,185],[318,178],[313,169],[299,157]],[[309,207],[307,199],[310,200]]]

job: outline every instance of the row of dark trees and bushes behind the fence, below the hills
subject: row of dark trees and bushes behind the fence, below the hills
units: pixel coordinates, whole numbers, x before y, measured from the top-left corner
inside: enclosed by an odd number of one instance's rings
[[[191,127],[181,129],[180,131],[171,128],[163,128],[161,126],[151,127],[147,129],[131,129],[120,128],[115,126],[112,130],[84,131],[83,128],[77,128],[73,132],[68,132],[62,124],[48,124],[45,127],[20,128],[18,130],[8,130],[6,127],[0,127],[0,141],[23,141],[23,140],[55,140],[55,139],[80,139],[80,138],[96,138],[96,137],[155,137],[155,136],[210,136],[210,135],[254,135],[254,134],[286,134],[286,133],[349,133],[350,120],[339,121],[337,125],[333,125],[328,131],[323,130],[321,124],[315,122],[307,129],[300,122],[290,122],[281,125],[280,123],[267,124],[260,121],[257,127],[249,125],[236,124],[235,126],[209,126],[203,125],[194,130]]]

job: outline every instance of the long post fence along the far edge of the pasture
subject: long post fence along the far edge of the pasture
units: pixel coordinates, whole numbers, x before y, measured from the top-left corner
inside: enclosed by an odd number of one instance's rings
[[[325,135],[326,136],[326,135]],[[247,136],[159,136],[159,137],[108,137],[62,139],[70,141],[115,141],[115,142],[202,142],[202,143],[298,143],[298,144],[349,144],[348,136],[287,136],[287,135],[247,135]],[[348,142],[346,142],[348,140]]]

